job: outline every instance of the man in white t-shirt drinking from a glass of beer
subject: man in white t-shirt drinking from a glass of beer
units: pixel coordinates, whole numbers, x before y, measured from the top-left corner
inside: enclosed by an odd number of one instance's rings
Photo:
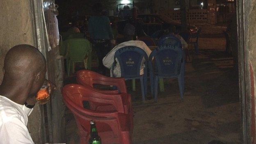
[[[11,48],[5,57],[0,85],[0,144],[34,144],[27,129],[27,116],[43,85],[46,59],[29,45]]]

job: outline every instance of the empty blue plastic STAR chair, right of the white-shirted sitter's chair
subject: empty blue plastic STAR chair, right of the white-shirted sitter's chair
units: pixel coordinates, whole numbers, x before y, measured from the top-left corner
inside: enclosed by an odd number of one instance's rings
[[[154,67],[152,64],[154,61]],[[184,94],[185,61],[178,45],[164,45],[154,49],[149,56],[151,93],[158,100],[159,78],[178,78],[181,100]]]

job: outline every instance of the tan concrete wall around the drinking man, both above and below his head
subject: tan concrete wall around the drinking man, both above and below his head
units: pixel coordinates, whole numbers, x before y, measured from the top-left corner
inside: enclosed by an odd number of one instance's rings
[[[7,51],[18,44],[35,46],[30,0],[0,0],[0,82]],[[36,144],[43,143],[42,116],[39,105],[29,116],[28,128]]]

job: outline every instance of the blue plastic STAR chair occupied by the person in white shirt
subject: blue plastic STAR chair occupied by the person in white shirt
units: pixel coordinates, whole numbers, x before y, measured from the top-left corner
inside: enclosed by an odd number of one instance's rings
[[[142,90],[142,101],[145,101],[145,94],[147,94],[147,62],[148,55],[144,50],[136,46],[125,46],[120,48],[114,54],[114,59],[118,60],[121,68],[121,77],[132,80],[140,79],[140,85]],[[140,75],[140,67],[143,58],[145,59],[144,63],[144,74]],[[112,65],[112,73],[116,62]]]

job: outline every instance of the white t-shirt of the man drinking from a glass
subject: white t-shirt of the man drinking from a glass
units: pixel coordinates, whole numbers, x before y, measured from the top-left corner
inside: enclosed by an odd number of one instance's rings
[[[32,110],[0,96],[0,144],[34,144],[27,129]]]

